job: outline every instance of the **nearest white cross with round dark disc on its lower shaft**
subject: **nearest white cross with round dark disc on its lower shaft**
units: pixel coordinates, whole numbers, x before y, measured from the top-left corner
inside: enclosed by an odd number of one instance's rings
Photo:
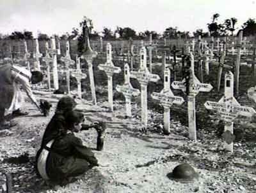
[[[220,101],[212,102],[206,101],[205,108],[214,110],[220,115],[220,119],[225,122],[225,129],[223,133],[224,148],[233,152],[233,121],[238,115],[245,117],[252,117],[256,111],[252,107],[241,106],[234,97],[234,75],[228,71],[225,74],[225,93]]]

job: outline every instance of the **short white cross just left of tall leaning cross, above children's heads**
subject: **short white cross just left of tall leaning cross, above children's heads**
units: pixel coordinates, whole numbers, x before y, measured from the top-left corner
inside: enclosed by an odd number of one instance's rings
[[[87,76],[81,70],[80,57],[76,56],[76,70],[71,71],[71,76],[74,76],[77,80],[77,96],[82,99],[82,85],[81,80],[85,79]]]

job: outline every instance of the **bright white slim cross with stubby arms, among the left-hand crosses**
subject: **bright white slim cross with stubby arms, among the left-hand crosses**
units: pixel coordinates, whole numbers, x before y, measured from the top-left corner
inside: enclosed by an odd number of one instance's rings
[[[51,54],[52,56],[53,86],[55,90],[58,90],[59,77],[58,77],[57,54],[60,54],[60,50],[56,49],[56,41],[54,37],[51,37],[51,49],[49,49],[49,54]]]

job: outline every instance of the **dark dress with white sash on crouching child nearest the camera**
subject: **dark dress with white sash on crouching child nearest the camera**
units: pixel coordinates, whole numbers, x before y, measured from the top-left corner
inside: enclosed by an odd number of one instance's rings
[[[56,124],[56,120],[58,120],[58,124]],[[52,117],[45,130],[42,147],[36,155],[36,168],[45,180],[58,181],[70,176],[78,176],[92,166],[98,165],[92,150],[84,146],[83,141],[72,132],[61,134],[61,136],[56,135],[57,129],[50,126],[60,126],[61,121],[63,121],[63,117],[60,114]],[[58,137],[51,138],[51,136]]]

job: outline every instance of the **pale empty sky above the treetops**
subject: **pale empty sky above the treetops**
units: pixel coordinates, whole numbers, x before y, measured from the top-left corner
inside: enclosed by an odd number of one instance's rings
[[[79,27],[83,16],[98,32],[116,26],[137,32],[163,33],[167,27],[206,31],[214,13],[220,14],[219,22],[236,17],[241,27],[256,18],[256,0],[0,0],[0,33],[26,29],[60,35]]]

